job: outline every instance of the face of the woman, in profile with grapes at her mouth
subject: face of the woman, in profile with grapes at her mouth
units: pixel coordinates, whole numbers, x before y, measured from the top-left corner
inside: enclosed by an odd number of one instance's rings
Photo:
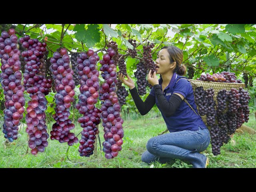
[[[173,62],[175,63],[175,62]],[[156,59],[156,74],[165,74],[173,70],[173,64],[170,63],[169,53],[167,49],[161,49]],[[175,66],[174,66],[175,67]]]

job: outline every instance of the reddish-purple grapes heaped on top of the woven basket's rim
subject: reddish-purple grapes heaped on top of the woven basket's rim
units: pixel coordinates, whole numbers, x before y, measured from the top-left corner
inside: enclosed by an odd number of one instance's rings
[[[221,73],[217,72],[215,74],[201,74],[200,78],[196,78],[196,80],[200,81],[208,81],[208,82],[225,82],[225,83],[242,83],[240,79],[236,79],[235,73],[222,71]]]

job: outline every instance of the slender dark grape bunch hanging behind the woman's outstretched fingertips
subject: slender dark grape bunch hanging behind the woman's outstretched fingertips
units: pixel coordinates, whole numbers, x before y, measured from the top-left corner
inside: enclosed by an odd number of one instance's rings
[[[119,54],[119,58],[121,56],[122,55]],[[118,75],[118,73],[124,74],[125,76],[127,75],[127,73],[126,73],[126,64],[125,64],[124,58],[122,58],[118,62],[118,68],[119,68],[119,71],[117,72],[117,75]],[[126,99],[125,98],[128,96],[128,91],[126,91],[125,86],[122,86],[122,81],[120,81],[119,79],[118,79],[118,82],[116,84],[116,88],[117,88],[116,94],[118,96],[118,102],[121,106],[123,106],[123,105],[126,104]]]

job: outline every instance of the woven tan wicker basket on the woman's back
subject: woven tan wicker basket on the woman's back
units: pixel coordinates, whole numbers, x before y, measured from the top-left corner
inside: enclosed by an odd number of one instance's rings
[[[197,87],[202,86],[204,88],[204,90],[208,89],[208,88],[213,88],[214,89],[214,101],[217,104],[217,93],[221,90],[221,89],[226,89],[227,91],[231,90],[231,88],[235,88],[238,89],[240,87],[244,88],[245,84],[244,83],[220,83],[220,82],[208,82],[208,81],[199,81],[199,80],[193,80],[193,79],[189,79],[189,81],[191,82],[192,88],[195,92],[195,89]],[[198,105],[196,104],[197,110],[198,110]],[[216,110],[216,106],[215,106],[215,110]],[[202,120],[204,121],[204,124],[207,126],[206,123],[206,115],[202,116]],[[207,126],[208,129],[210,130],[210,126]]]

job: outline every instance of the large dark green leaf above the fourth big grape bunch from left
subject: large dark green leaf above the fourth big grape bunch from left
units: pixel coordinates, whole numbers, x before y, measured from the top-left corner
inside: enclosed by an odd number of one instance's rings
[[[76,24],[74,27],[76,39],[86,44],[88,48],[100,42],[100,32],[97,24],[88,25],[87,30],[84,29],[84,24]]]

